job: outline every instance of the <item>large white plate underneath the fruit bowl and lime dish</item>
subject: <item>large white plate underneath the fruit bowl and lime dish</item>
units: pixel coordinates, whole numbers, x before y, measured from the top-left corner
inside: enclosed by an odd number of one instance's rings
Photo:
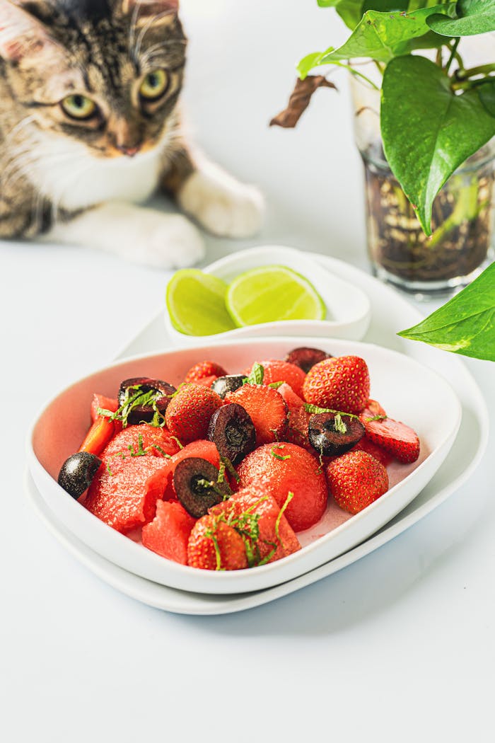
[[[321,259],[321,262],[329,263],[332,270],[341,273],[347,280],[355,282],[367,292],[373,307],[373,322],[368,334],[370,340],[380,340],[381,343],[386,345],[393,345],[396,348],[401,348],[402,351],[409,351],[411,355],[422,358],[424,362],[430,363],[430,366],[436,367],[449,377],[450,383],[462,402],[463,422],[445,464],[422,493],[373,538],[368,539],[363,545],[354,548],[344,556],[277,588],[258,591],[244,597],[205,597],[202,594],[188,594],[184,591],[150,583],[122,571],[88,551],[84,545],[79,545],[76,538],[69,533],[68,540],[71,545],[67,544],[67,546],[103,580],[107,580],[108,583],[119,588],[119,590],[142,600],[144,603],[168,611],[188,614],[220,614],[258,606],[320,580],[321,577],[330,575],[344,565],[349,565],[364,554],[384,544],[443,502],[471,475],[479,463],[488,437],[488,413],[482,395],[471,374],[466,371],[460,360],[452,354],[444,354],[422,344],[405,342],[396,337],[396,330],[413,325],[418,322],[420,316],[395,291],[384,287],[376,279],[342,262],[334,259],[324,259],[323,257],[318,259]],[[157,317],[131,341],[122,351],[121,356],[163,347],[163,341],[163,319],[161,313],[157,313]],[[42,505],[43,502],[39,502],[39,504]],[[55,517],[45,506],[43,507],[51,528],[57,532]],[[59,531],[59,536],[62,537],[62,531]],[[93,558],[91,558],[91,554]]]

